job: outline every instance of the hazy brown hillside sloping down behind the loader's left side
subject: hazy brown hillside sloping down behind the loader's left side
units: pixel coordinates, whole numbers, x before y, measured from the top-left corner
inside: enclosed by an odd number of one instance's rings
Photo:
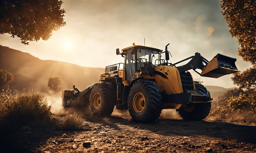
[[[63,89],[72,89],[72,85],[80,90],[99,81],[103,68],[87,68],[61,61],[41,60],[29,53],[0,46],[0,68],[11,72],[14,76],[10,89],[18,91],[48,90],[49,77],[63,78]]]

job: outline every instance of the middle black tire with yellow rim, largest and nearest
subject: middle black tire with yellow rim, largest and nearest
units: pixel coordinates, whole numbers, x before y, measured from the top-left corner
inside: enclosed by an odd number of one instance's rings
[[[159,118],[163,107],[161,91],[148,80],[136,81],[128,96],[128,110],[136,122],[154,122]]]

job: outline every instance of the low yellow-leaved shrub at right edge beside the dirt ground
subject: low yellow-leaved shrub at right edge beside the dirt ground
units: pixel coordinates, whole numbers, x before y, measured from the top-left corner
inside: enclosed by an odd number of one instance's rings
[[[256,121],[256,93],[231,96],[229,99],[218,103],[211,111],[218,118],[233,120]]]

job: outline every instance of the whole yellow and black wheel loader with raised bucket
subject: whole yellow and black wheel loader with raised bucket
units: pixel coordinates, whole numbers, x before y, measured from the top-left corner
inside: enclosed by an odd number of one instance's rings
[[[196,52],[170,63],[168,45],[164,51],[135,44],[121,52],[117,48],[116,54],[124,58],[124,63],[106,66],[99,82],[83,91],[74,85],[73,90],[63,90],[62,106],[90,107],[98,118],[110,116],[116,106],[116,109],[128,109],[136,122],[154,122],[162,109],[176,109],[184,120],[206,118],[213,99],[200,81],[193,80],[189,70],[202,77],[218,78],[239,72],[236,59],[217,54],[208,61]],[[188,62],[180,64],[185,61]]]

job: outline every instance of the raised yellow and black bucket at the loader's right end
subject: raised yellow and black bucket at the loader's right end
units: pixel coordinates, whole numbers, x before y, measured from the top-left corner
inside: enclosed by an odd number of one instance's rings
[[[236,59],[217,54],[206,67],[203,68],[201,76],[219,78],[226,74],[240,72],[236,68]]]

